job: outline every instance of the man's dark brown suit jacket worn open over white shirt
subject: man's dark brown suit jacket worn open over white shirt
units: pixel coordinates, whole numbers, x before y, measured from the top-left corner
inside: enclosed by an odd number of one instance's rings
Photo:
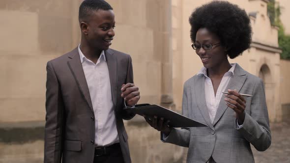
[[[133,83],[130,55],[105,51],[111,81],[116,126],[125,163],[131,163],[122,119],[121,86]],[[95,121],[78,48],[47,63],[44,163],[93,163]]]

